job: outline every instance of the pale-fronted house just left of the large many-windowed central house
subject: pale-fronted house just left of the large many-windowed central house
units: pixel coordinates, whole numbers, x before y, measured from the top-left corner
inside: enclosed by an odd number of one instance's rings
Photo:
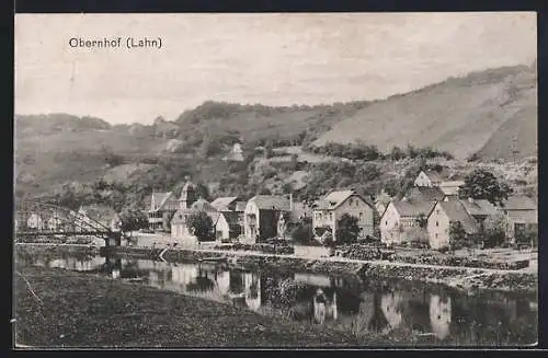
[[[275,195],[256,195],[246,205],[243,228],[246,242],[256,243],[276,238],[282,212],[290,210],[289,199]]]

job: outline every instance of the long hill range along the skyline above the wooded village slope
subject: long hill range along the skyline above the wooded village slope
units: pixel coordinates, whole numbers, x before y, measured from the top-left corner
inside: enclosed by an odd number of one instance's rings
[[[165,150],[173,139],[183,151],[204,140],[226,146],[361,140],[381,151],[409,143],[460,159],[525,158],[537,151],[536,65],[478,71],[373,102],[265,106],[208,101],[174,120],[158,117],[152,125],[114,126],[68,114],[15,115],[18,149],[35,150],[36,135],[42,150],[50,152],[107,146],[150,154]]]

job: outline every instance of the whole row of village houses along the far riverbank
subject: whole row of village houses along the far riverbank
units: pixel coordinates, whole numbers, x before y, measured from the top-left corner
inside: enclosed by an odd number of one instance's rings
[[[148,211],[150,228],[171,231],[176,240],[195,241],[186,226],[187,218],[205,211],[213,220],[216,240],[261,242],[270,238],[288,238],[289,226],[311,219],[315,234],[320,241],[335,235],[338,220],[349,213],[357,218],[362,236],[374,236],[375,218],[379,217],[380,239],[387,244],[423,241],[433,249],[449,244],[449,226],[458,221],[468,234],[481,230],[483,221],[503,215],[506,235],[513,242],[528,224],[537,224],[537,205],[525,196],[511,196],[503,206],[488,200],[459,199],[463,181],[445,180],[434,171],[422,171],[414,186],[400,200],[381,193],[370,200],[354,190],[334,190],[312,205],[294,201],[289,195],[258,195],[248,201],[238,197],[220,197],[212,203],[197,197],[195,186],[187,182],[178,198],[173,193],[152,193]],[[427,220],[420,224],[420,219]]]

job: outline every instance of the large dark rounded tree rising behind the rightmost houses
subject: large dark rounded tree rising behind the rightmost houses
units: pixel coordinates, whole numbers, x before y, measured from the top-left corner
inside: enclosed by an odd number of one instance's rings
[[[496,205],[507,199],[512,192],[512,188],[506,183],[499,182],[493,173],[477,169],[465,178],[465,184],[458,189],[458,196],[486,199]]]

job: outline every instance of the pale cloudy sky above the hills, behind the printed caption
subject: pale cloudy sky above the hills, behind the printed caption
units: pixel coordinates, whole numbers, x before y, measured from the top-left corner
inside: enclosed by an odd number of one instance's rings
[[[161,49],[71,37],[162,38]],[[375,100],[486,68],[530,65],[535,13],[16,14],[15,113],[113,124],[204,101]]]

